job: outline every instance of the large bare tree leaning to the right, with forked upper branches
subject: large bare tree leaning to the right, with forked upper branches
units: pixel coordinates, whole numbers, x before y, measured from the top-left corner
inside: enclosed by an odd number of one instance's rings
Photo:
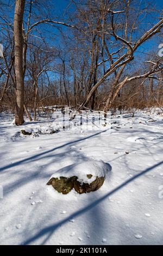
[[[104,33],[105,35],[111,36],[111,39],[114,38],[115,42],[120,42],[121,45],[120,45],[120,48],[118,49],[119,52],[121,52],[122,46],[124,48],[126,48],[127,51],[126,51],[126,53],[122,52],[120,57],[118,57],[118,58],[116,57],[117,59],[114,63],[111,62],[110,67],[108,68],[108,70],[105,71],[105,74],[101,78],[99,78],[98,82],[95,84],[95,86],[93,86],[90,93],[87,95],[86,100],[82,103],[82,105],[79,107],[79,109],[83,108],[84,106],[87,105],[87,103],[89,103],[93,94],[96,92],[98,87],[106,80],[106,78],[111,76],[119,68],[122,68],[122,66],[125,66],[128,63],[130,63],[134,59],[134,53],[136,52],[137,48],[139,48],[148,39],[152,38],[152,36],[159,33],[161,31],[162,27],[163,27],[163,19],[161,19],[151,29],[149,29],[147,32],[145,32],[143,35],[141,35],[139,39],[135,40],[135,38],[133,38],[133,36],[132,36],[133,33],[135,33],[134,32],[135,21],[133,22],[133,25],[130,28],[130,32],[127,32],[129,3],[130,3],[130,1],[128,1],[128,5],[127,5],[128,10],[127,10],[127,12],[123,9],[122,10],[121,9],[120,10],[114,10],[114,8],[116,9],[118,5],[121,8],[121,1],[116,1],[116,6],[114,6],[115,5],[114,1],[111,4],[109,4],[109,7],[107,7],[107,8],[106,8],[106,5],[105,5],[105,10],[104,11],[107,15],[110,16],[111,24],[108,25],[109,29],[107,28],[107,31],[109,30],[109,32],[103,32],[102,29],[101,29],[101,31],[99,31],[99,34],[103,35],[103,33]],[[121,25],[120,25],[120,24],[118,24],[118,22],[117,22],[118,19],[115,18],[115,16],[121,15],[121,14],[122,14],[123,18],[126,17],[127,19],[126,19],[124,24],[121,23]],[[137,17],[137,19],[138,19],[138,17]],[[122,27],[121,34],[124,34],[126,36],[127,36],[127,34],[130,34],[128,40],[127,40],[127,37],[125,37],[125,36],[123,38],[122,36],[117,35],[116,30],[117,30],[118,27]],[[109,50],[108,50],[108,59],[111,58],[110,56],[112,57],[112,53],[110,53]]]

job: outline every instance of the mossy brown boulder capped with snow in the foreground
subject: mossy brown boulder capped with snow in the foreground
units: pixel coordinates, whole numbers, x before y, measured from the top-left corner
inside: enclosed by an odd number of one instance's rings
[[[77,193],[89,193],[98,190],[109,179],[111,166],[102,160],[88,160],[65,166],[55,172],[47,185],[52,185],[62,194],[68,194],[72,189]]]

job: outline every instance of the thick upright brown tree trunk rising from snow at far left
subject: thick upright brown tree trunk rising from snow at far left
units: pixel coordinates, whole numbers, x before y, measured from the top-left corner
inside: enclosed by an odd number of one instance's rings
[[[16,0],[14,14],[14,43],[15,43],[15,77],[16,77],[16,114],[15,124],[24,123],[24,76],[23,76],[23,14],[26,0]]]

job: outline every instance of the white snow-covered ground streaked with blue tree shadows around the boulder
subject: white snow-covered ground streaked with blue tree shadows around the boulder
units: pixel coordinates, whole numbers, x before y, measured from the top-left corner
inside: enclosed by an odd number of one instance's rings
[[[72,127],[52,134],[58,129],[51,118],[17,127],[12,114],[0,114],[0,244],[163,244],[159,111],[113,115],[111,130]],[[46,185],[58,169],[87,160],[112,167],[98,191],[62,195]]]

